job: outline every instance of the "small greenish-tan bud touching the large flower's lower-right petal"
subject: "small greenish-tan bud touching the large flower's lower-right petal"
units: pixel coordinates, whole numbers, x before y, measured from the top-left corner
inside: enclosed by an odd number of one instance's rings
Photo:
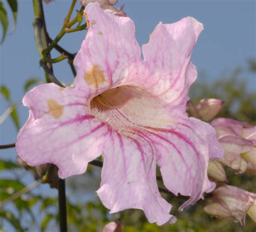
[[[218,160],[211,160],[208,164],[207,173],[210,178],[216,181],[227,181],[223,165]]]

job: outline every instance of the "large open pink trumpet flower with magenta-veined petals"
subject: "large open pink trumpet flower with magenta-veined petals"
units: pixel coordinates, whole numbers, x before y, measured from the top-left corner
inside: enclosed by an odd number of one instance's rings
[[[17,152],[30,166],[54,163],[60,178],[84,173],[103,155],[97,193],[110,213],[137,208],[151,223],[173,223],[156,166],[172,193],[190,196],[183,209],[215,187],[207,165],[223,154],[214,129],[186,114],[197,77],[190,56],[203,25],[191,17],[159,23],[142,60],[130,18],[98,3],[85,13],[90,28],[75,59],[74,85],[39,85],[25,95],[30,117]]]

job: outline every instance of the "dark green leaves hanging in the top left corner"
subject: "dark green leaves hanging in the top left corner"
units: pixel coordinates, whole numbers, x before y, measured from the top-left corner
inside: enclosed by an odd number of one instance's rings
[[[12,26],[12,30],[11,30],[11,32],[14,32],[15,29],[16,29],[16,24],[17,24],[18,4],[17,4],[17,0],[8,0],[7,3],[11,8],[12,17],[14,19],[14,26]],[[2,1],[0,1],[0,22],[2,24],[2,29],[3,29],[2,39],[1,39],[1,42],[0,42],[0,44],[2,44],[4,42],[6,33],[8,31],[8,25],[9,25],[8,15],[7,15],[7,12],[5,10],[5,6],[4,6]]]

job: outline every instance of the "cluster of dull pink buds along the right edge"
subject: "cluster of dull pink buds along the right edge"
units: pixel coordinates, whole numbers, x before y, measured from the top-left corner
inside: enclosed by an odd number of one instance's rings
[[[222,159],[209,162],[208,176],[214,181],[227,182],[224,166],[237,174],[247,172],[256,175],[256,126],[228,118],[214,119],[223,103],[219,99],[202,99],[197,106],[191,100],[187,102],[188,115],[210,122],[224,148]],[[219,219],[232,218],[242,226],[245,226],[248,214],[256,222],[256,194],[234,186],[218,186],[212,197],[205,200],[205,213]]]

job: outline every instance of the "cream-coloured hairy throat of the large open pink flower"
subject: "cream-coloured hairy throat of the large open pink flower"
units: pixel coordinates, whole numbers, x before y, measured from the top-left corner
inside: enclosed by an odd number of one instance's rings
[[[95,118],[129,137],[139,128],[170,123],[159,98],[136,86],[119,86],[97,95],[90,102],[90,111]]]

